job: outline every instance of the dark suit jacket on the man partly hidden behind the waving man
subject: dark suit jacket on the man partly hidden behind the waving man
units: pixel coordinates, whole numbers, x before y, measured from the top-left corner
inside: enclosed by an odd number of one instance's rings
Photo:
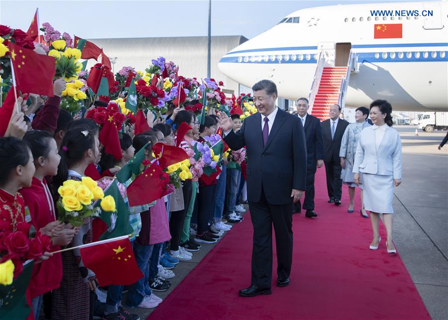
[[[305,139],[307,141],[308,171],[316,172],[316,161],[324,159],[324,136],[322,134],[321,120],[314,115],[307,114],[303,129],[305,130]]]

